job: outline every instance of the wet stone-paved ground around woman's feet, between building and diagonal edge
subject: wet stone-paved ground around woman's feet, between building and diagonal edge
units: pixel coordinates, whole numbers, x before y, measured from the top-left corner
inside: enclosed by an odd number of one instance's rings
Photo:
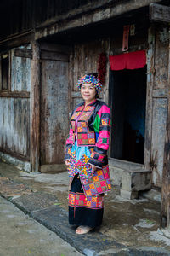
[[[122,200],[119,189],[113,186],[105,196],[101,228],[80,238],[67,223],[66,172],[27,173],[2,162],[0,195],[85,255],[170,255],[170,239],[159,229],[157,201]]]

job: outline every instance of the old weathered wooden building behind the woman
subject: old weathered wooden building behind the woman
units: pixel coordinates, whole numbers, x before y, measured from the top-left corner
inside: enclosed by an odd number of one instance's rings
[[[81,100],[77,79],[98,72],[105,80],[101,98],[112,113],[111,176],[122,185],[122,196],[130,198],[139,190],[162,188],[161,219],[167,227],[169,5],[159,0],[2,0],[1,159],[29,172],[64,170],[69,113]],[[125,55],[125,67],[118,67]]]

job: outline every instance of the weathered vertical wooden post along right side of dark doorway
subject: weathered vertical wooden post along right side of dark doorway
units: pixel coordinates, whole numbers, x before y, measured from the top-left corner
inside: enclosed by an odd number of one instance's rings
[[[150,27],[148,32],[149,49],[147,52],[147,91],[146,91],[146,117],[144,136],[144,166],[150,169],[151,137],[152,137],[152,94],[154,87],[155,64],[155,27]]]

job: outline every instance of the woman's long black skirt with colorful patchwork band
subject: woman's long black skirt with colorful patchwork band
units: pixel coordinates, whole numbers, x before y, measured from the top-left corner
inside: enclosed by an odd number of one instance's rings
[[[69,224],[98,227],[102,223],[104,207],[93,207],[92,201],[104,201],[104,195],[86,196],[78,174],[71,183],[69,193]],[[95,203],[94,203],[95,205]]]

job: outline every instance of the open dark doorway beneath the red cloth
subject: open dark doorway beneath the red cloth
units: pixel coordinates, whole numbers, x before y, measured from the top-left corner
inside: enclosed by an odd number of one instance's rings
[[[110,72],[111,157],[144,164],[146,67]]]

